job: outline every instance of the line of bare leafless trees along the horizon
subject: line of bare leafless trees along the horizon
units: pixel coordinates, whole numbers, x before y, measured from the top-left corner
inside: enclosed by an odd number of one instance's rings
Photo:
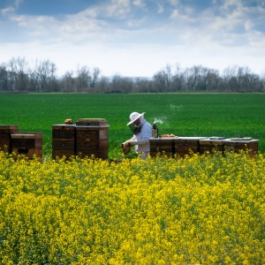
[[[22,57],[0,64],[0,91],[66,93],[133,93],[133,92],[265,92],[265,76],[244,66],[230,66],[222,73],[201,65],[172,69],[166,65],[150,79],[115,74],[102,75],[97,67],[78,66],[75,72],[57,76],[56,64],[35,60],[29,66]]]

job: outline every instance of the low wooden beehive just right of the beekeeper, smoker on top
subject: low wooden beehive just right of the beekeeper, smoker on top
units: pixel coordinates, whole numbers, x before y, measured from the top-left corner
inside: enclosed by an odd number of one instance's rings
[[[150,156],[166,155],[173,157],[175,154],[174,138],[150,138]]]

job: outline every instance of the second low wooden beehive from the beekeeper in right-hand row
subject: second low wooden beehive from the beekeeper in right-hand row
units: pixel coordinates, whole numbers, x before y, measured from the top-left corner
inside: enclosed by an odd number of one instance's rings
[[[206,137],[178,137],[174,139],[175,155],[185,156],[200,152],[199,140],[206,139]]]

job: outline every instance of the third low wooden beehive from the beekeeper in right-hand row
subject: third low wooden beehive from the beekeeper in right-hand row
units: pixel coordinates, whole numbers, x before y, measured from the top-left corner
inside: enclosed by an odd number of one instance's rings
[[[210,137],[206,139],[199,140],[200,144],[200,153],[204,154],[208,152],[209,154],[213,154],[214,152],[222,152],[223,153],[223,138],[220,137]]]

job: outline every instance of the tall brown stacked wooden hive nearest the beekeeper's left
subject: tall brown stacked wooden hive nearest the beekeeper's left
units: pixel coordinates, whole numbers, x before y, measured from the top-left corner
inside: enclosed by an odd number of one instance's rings
[[[76,123],[76,155],[107,159],[109,127],[102,118],[80,118]]]

